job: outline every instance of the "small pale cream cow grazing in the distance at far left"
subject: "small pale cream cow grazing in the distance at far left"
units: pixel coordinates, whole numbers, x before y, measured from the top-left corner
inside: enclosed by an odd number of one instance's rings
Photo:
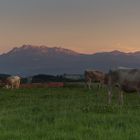
[[[5,87],[18,89],[20,87],[20,80],[21,78],[19,76],[9,76],[4,81]]]

